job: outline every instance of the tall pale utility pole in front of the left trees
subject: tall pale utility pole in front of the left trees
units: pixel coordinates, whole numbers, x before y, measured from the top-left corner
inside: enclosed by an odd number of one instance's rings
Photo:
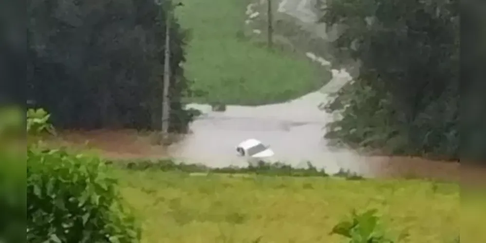
[[[166,45],[164,50],[164,90],[162,91],[162,137],[161,142],[168,139],[169,117],[170,117],[170,21],[172,17],[172,6],[166,4]]]

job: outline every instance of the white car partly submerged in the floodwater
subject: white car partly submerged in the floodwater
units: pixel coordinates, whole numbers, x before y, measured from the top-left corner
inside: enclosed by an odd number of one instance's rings
[[[270,146],[264,145],[257,139],[246,139],[236,147],[237,155],[244,157],[250,166],[257,166],[260,161],[264,163],[275,163],[275,159]]]

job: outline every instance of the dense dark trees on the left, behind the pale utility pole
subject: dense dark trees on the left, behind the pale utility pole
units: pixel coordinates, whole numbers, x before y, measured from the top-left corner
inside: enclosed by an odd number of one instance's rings
[[[59,128],[160,128],[166,14],[154,0],[27,0],[27,99]],[[172,22],[170,129],[184,130],[187,38]]]

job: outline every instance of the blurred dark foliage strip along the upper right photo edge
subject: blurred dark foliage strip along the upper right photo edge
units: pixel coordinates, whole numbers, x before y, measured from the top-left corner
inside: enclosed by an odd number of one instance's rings
[[[461,1],[461,162],[485,161],[486,4]]]

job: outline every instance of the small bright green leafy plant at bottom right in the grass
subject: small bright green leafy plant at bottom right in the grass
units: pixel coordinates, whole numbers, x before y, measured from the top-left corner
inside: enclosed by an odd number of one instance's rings
[[[349,243],[393,243],[394,241],[385,237],[378,225],[376,212],[376,209],[362,213],[353,211],[351,218],[339,222],[333,227],[331,234],[344,236],[349,239]]]

